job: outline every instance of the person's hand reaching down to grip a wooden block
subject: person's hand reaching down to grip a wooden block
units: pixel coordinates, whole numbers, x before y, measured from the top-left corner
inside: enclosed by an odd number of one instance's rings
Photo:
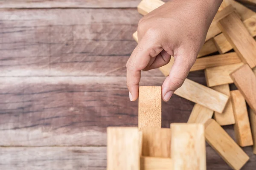
[[[138,45],[126,64],[131,101],[139,94],[141,71],[175,62],[162,85],[169,101],[180,88],[204,44],[209,26],[222,0],[170,0],[143,17],[138,25]]]

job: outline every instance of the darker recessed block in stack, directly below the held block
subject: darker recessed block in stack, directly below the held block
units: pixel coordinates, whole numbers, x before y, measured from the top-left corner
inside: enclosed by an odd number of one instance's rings
[[[171,129],[142,127],[143,144],[142,156],[170,158],[171,157]]]

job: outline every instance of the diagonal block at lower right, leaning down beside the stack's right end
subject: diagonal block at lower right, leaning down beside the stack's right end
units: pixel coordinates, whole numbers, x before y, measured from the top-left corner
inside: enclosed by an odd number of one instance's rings
[[[215,120],[209,119],[204,126],[205,138],[209,145],[231,168],[240,170],[249,160],[249,156]]]

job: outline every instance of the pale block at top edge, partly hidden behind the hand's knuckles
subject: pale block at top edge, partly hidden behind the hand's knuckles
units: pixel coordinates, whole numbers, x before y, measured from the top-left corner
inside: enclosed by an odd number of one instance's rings
[[[138,12],[142,15],[146,15],[154,9],[164,4],[161,0],[142,0],[138,7]]]

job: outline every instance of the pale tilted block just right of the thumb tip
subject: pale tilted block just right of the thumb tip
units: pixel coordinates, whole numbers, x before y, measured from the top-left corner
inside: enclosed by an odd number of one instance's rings
[[[190,79],[186,79],[174,94],[219,113],[223,112],[229,98]]]

